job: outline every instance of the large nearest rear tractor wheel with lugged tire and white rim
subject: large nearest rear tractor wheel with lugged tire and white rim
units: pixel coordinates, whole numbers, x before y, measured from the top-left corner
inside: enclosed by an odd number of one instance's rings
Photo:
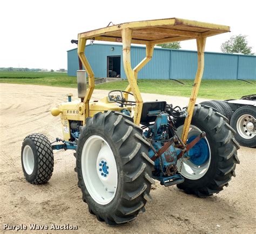
[[[98,112],[86,119],[78,139],[76,167],[83,201],[109,225],[132,221],[151,199],[150,145],[132,121],[119,112]]]

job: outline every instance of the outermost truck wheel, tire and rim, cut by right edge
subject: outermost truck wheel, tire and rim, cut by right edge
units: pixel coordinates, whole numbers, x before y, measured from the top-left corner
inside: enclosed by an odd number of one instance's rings
[[[255,107],[240,107],[232,118],[231,126],[237,134],[235,139],[242,146],[256,146],[256,108]]]

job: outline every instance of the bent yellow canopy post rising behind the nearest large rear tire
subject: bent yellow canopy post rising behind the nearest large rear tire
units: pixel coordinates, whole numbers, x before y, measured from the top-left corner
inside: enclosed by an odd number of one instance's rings
[[[123,62],[124,70],[129,81],[132,94],[136,101],[136,106],[134,109],[133,122],[137,125],[140,123],[140,117],[142,115],[142,106],[143,100],[142,95],[140,94],[139,87],[137,84],[137,79],[134,76],[133,69],[131,67],[131,39],[132,39],[132,30],[124,29],[122,30],[122,39],[123,39]]]

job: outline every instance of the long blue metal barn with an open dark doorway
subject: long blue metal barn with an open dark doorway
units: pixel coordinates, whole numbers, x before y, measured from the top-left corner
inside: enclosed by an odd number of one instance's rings
[[[194,79],[197,70],[197,52],[183,49],[154,48],[152,60],[138,74],[138,79]],[[122,46],[93,44],[86,46],[85,55],[95,77],[121,77],[123,69]],[[132,66],[145,57],[145,47],[131,47]],[[68,51],[68,75],[76,76],[79,69],[77,49]],[[256,56],[205,52],[203,79],[256,80]]]

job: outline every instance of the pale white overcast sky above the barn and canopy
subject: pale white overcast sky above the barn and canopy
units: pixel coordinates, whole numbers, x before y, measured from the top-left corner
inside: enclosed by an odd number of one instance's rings
[[[237,34],[247,35],[256,52],[256,1],[0,1],[0,67],[67,68],[71,39],[101,27],[137,20],[184,18],[231,27],[230,33],[207,38],[205,51],[221,52],[221,44]],[[196,50],[196,41],[181,49]]]

